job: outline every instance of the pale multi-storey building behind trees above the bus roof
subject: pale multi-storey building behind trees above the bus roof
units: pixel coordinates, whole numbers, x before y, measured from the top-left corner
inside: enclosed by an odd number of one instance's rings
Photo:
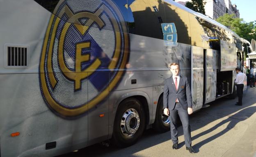
[[[192,0],[175,0],[182,5],[186,2],[191,2]],[[235,14],[235,18],[240,18],[239,10],[235,4],[232,5],[231,0],[204,0],[206,15],[212,19],[217,19],[225,13]]]

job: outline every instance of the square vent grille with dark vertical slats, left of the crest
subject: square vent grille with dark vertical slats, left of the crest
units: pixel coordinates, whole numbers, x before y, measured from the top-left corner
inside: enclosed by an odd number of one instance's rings
[[[28,45],[5,45],[5,68],[26,69],[28,67]]]

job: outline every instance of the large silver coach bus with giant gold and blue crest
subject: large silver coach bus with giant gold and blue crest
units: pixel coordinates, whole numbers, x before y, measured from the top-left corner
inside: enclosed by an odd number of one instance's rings
[[[1,157],[130,146],[169,130],[169,64],[193,111],[234,96],[243,66],[237,34],[173,0],[1,0],[0,21]]]

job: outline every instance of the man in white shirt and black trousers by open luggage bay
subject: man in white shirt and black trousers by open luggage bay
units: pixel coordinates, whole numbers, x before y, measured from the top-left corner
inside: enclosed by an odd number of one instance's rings
[[[246,75],[241,72],[239,67],[235,68],[237,73],[235,78],[235,86],[236,86],[236,93],[238,95],[238,102],[235,105],[242,106],[242,95],[244,89],[244,81],[246,80]]]

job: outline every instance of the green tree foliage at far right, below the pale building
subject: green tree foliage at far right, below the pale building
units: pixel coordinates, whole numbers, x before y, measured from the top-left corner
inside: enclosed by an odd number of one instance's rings
[[[234,18],[234,14],[224,14],[216,19],[217,22],[228,27],[241,38],[251,42],[251,39],[256,39],[256,21],[245,22],[242,18]]]

